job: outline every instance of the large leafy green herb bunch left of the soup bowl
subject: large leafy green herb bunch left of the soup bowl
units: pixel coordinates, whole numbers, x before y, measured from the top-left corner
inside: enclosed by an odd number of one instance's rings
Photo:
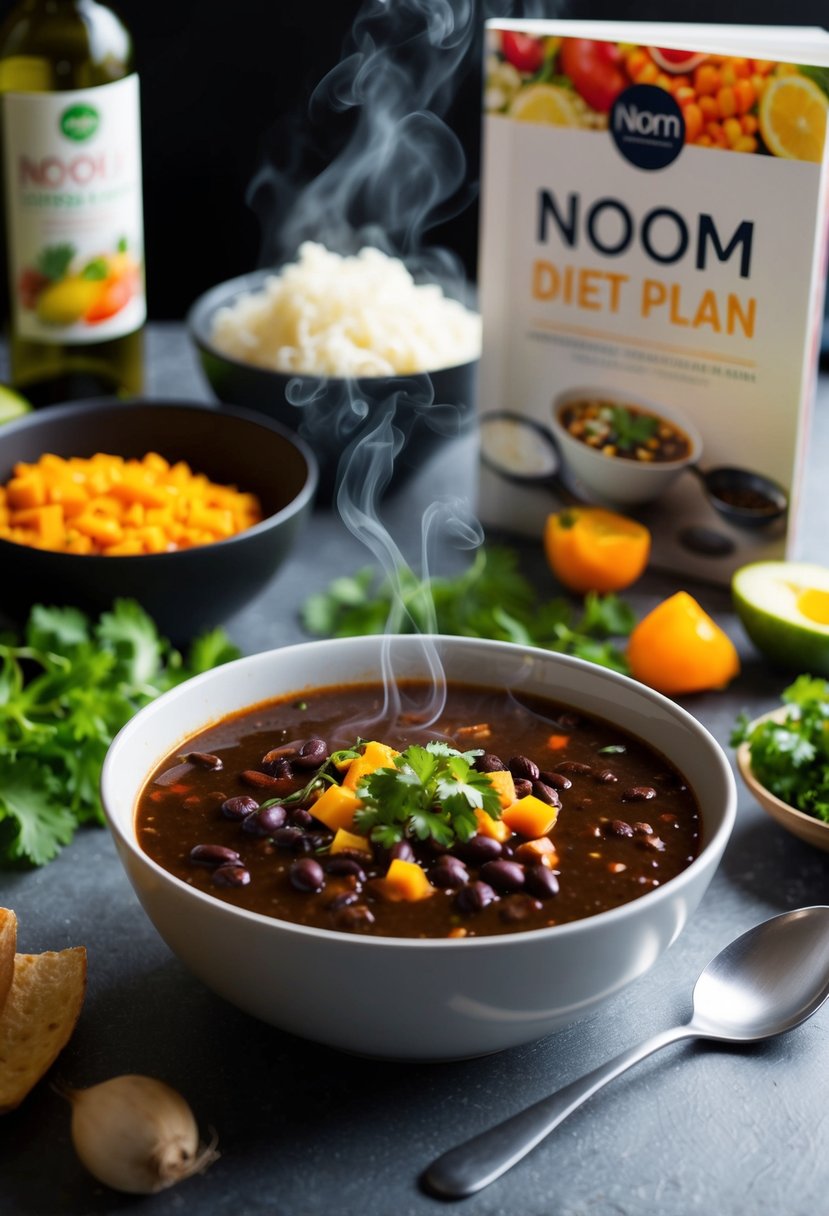
[[[0,862],[43,866],[78,824],[102,823],[113,736],[159,693],[237,655],[214,630],[185,660],[131,599],[97,621],[33,608],[22,640],[0,637]]]

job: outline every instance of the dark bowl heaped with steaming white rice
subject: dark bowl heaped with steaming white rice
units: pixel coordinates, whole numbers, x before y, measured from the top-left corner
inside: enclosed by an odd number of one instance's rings
[[[219,283],[187,325],[216,398],[310,444],[318,501],[395,492],[475,417],[480,317],[401,261],[306,242]]]

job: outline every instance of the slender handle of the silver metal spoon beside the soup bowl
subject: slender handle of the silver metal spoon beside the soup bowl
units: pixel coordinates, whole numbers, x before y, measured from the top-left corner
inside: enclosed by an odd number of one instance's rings
[[[548,1136],[608,1081],[613,1081],[620,1073],[638,1064],[660,1047],[667,1047],[669,1043],[681,1038],[693,1038],[698,1034],[699,1031],[690,1025],[673,1026],[654,1035],[638,1047],[622,1052],[621,1055],[608,1060],[607,1064],[564,1086],[563,1090],[444,1153],[425,1171],[423,1183],[434,1194],[445,1199],[462,1199],[481,1190],[526,1156],[545,1136]]]

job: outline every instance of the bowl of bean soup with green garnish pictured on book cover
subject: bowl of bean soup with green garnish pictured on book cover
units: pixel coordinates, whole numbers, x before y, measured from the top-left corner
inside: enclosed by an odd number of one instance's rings
[[[703,454],[699,432],[681,411],[607,388],[560,393],[551,429],[573,475],[615,506],[658,499]]]

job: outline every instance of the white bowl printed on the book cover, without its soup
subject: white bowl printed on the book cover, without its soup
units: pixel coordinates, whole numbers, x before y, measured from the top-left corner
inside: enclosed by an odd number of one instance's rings
[[[633,405],[648,413],[673,422],[690,440],[690,451],[683,460],[660,461],[648,465],[643,461],[603,456],[596,447],[588,447],[574,438],[562,426],[562,410],[574,401],[613,401],[615,405]],[[607,388],[571,388],[553,401],[551,429],[562,454],[562,460],[575,477],[599,499],[615,506],[635,506],[650,502],[664,494],[671,482],[689,465],[695,465],[703,454],[703,439],[683,413],[666,405],[655,405],[633,394],[615,394]]]

